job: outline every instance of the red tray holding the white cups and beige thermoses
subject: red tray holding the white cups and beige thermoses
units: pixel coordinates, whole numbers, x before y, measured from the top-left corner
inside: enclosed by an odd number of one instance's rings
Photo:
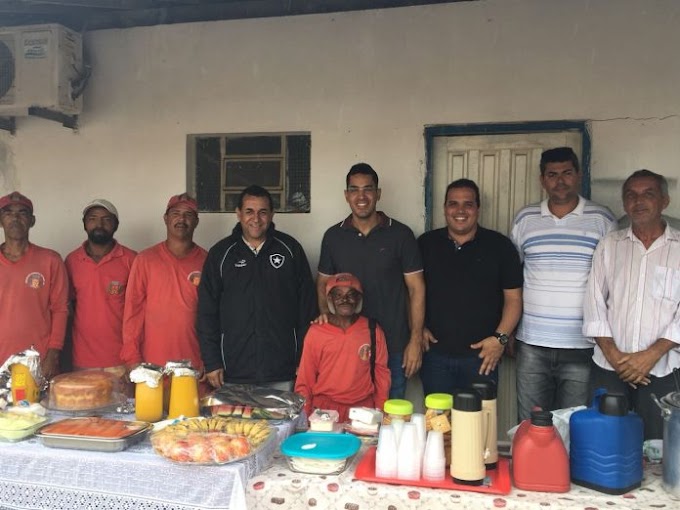
[[[487,494],[510,494],[512,484],[510,483],[510,461],[503,457],[498,458],[496,469],[486,472],[486,479],[483,485],[461,485],[455,483],[450,476],[444,477],[439,482],[432,480],[397,480],[395,478],[379,478],[375,476],[375,451],[376,447],[371,446],[357,464],[354,471],[354,478],[364,482],[389,483],[393,485],[414,485],[416,487],[429,487],[432,489],[450,489],[457,491],[485,492]]]

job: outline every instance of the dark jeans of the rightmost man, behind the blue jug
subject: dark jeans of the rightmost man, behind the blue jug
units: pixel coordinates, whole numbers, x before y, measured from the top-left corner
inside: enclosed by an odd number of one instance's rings
[[[671,391],[676,391],[673,374],[665,377],[648,376],[650,383],[647,386],[638,386],[637,389],[631,388],[628,383],[623,382],[618,374],[613,370],[592,364],[590,371],[591,394],[597,388],[605,388],[607,393],[619,393],[628,397],[628,406],[642,418],[645,430],[645,439],[663,438],[663,417],[661,410],[652,400],[652,393],[657,397],[667,395]]]

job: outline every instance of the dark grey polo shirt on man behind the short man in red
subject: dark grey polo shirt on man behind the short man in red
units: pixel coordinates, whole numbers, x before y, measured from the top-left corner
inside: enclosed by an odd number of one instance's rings
[[[364,289],[362,315],[375,318],[390,354],[408,343],[408,289],[404,275],[422,271],[418,243],[410,228],[379,212],[380,223],[368,235],[352,225],[352,216],[329,228],[321,242],[319,273],[352,273]]]

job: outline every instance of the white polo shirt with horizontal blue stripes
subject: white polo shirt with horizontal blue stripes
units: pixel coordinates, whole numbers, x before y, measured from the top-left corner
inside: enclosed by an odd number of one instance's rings
[[[581,331],[583,296],[595,247],[614,228],[612,212],[583,197],[562,218],[547,200],[517,214],[511,238],[524,262],[518,339],[541,347],[592,347]]]

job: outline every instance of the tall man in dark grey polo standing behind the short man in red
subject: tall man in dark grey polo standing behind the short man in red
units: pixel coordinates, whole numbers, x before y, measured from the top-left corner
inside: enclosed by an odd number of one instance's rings
[[[418,243],[406,225],[376,210],[378,174],[366,163],[346,178],[352,214],[329,228],[321,242],[317,297],[326,320],[326,282],[352,273],[364,287],[363,314],[375,318],[387,338],[392,376],[390,398],[404,398],[406,379],[420,368],[425,317],[425,283]]]

